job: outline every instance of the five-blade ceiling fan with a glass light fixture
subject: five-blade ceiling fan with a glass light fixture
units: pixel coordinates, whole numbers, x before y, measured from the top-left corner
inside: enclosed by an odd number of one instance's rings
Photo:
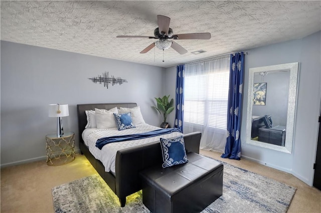
[[[170,40],[183,40],[183,39],[210,39],[211,33],[209,32],[200,32],[200,33],[186,33],[186,34],[173,34],[173,29],[170,28],[171,18],[164,15],[157,15],[157,24],[158,27],[154,29],[154,36],[140,36],[140,35],[118,35],[119,38],[154,38],[158,39],[157,41],[151,43],[146,48],[144,48],[140,53],[146,53],[154,46],[159,49],[168,49],[172,47],[180,54],[185,54],[187,50],[183,48],[177,42]]]

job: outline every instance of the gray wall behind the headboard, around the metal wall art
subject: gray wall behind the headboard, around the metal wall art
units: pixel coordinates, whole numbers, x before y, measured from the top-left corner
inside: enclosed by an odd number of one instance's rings
[[[108,71],[128,82],[108,86],[93,83]],[[57,118],[48,104],[68,103],[65,131],[74,131],[78,149],[76,104],[136,102],[145,121],[159,125],[151,108],[163,95],[165,69],[156,66],[1,41],[1,165],[44,159],[45,136],[56,131]]]

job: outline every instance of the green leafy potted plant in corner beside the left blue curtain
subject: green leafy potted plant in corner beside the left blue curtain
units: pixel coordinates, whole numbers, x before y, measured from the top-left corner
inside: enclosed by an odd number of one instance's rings
[[[169,101],[169,97],[170,97],[170,95],[168,95],[168,96],[164,95],[164,97],[155,97],[155,100],[157,101],[157,107],[152,106],[163,117],[163,122],[161,124],[162,128],[170,128],[171,127],[170,124],[166,121],[166,118],[167,118],[167,115],[174,110],[174,106],[173,106],[174,100],[172,98]]]

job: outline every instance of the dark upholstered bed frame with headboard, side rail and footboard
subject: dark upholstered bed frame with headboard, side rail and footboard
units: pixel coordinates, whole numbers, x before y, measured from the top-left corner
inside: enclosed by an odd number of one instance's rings
[[[132,147],[121,148],[115,153],[114,170],[107,168],[104,165],[105,162],[97,159],[97,156],[94,156],[96,155],[95,153],[91,153],[89,150],[90,145],[86,145],[82,137],[84,135],[85,126],[87,125],[85,111],[95,110],[95,108],[109,110],[114,107],[133,108],[136,106],[136,103],[77,104],[79,147],[81,153],[87,157],[92,166],[118,196],[122,207],[125,206],[126,196],[142,188],[139,171],[156,163],[162,163],[161,145],[159,140],[155,140]],[[199,153],[200,140],[201,132],[185,134],[184,141],[186,151]]]

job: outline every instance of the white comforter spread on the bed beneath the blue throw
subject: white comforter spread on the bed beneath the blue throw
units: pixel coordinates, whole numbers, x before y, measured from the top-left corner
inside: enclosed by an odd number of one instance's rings
[[[170,138],[182,135],[180,132],[172,132],[169,134],[158,135],[154,137],[147,137],[144,139],[138,140],[129,140],[122,142],[113,142],[108,143],[102,147],[100,150],[96,147],[97,139],[101,137],[113,136],[113,135],[125,135],[125,134],[138,134],[142,132],[152,131],[159,129],[159,127],[152,126],[149,124],[140,124],[136,125],[136,128],[129,128],[119,131],[117,128],[108,128],[108,129],[98,129],[98,128],[86,128],[82,132],[82,138],[85,144],[88,146],[89,151],[94,155],[96,159],[99,159],[102,164],[105,166],[105,171],[112,171],[115,173],[115,159],[117,150],[128,148],[140,144],[145,144],[149,142],[159,141],[159,138]]]

